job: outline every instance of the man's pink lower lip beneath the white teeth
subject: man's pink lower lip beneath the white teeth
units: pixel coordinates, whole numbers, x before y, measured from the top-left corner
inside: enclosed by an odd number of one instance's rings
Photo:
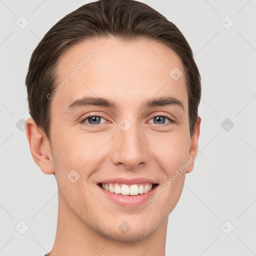
[[[155,185],[153,189],[143,194],[121,195],[121,194],[111,193],[103,189],[101,186],[99,185],[97,186],[107,198],[109,198],[110,200],[114,201],[115,203],[121,206],[128,206],[128,207],[138,206],[147,200],[149,201],[149,197],[155,193],[155,190],[158,187],[158,185]]]

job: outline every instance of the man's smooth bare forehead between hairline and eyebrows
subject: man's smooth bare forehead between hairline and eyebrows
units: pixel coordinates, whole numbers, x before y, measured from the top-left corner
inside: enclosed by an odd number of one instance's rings
[[[182,75],[173,79],[172,70]],[[183,99],[187,108],[182,62],[172,49],[153,40],[109,37],[75,44],[60,56],[56,86],[61,89],[52,104],[62,107],[83,96],[114,97],[130,104],[141,96],[166,95]]]

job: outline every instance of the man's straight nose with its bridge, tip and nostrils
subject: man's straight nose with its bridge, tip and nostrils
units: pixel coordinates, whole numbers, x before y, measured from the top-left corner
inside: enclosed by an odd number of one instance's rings
[[[127,168],[135,168],[141,162],[147,162],[147,147],[144,144],[143,132],[136,118],[133,118],[132,122],[123,118],[116,126],[116,133],[112,154],[112,160],[115,164],[122,163]]]

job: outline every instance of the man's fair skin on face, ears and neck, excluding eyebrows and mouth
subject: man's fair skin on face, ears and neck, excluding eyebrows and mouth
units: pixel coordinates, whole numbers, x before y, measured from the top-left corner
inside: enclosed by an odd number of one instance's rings
[[[59,189],[57,230],[50,254],[165,255],[168,215],[194,161],[154,202],[135,207],[119,206],[103,197],[96,182],[147,177],[157,180],[160,187],[196,155],[200,117],[190,137],[181,60],[170,48],[152,40],[87,40],[61,56],[57,84],[94,48],[99,50],[95,57],[51,99],[50,141],[32,118],[26,122],[32,157],[44,173],[55,174]],[[175,66],[183,72],[178,80],[169,75]],[[141,105],[145,99],[166,95],[180,100],[184,111],[177,105]],[[111,99],[117,108],[92,105],[67,111],[73,100],[83,96]],[[103,117],[100,124],[91,124],[97,127],[88,126],[88,119],[79,122],[89,114]],[[154,120],[162,114],[176,122]],[[131,123],[127,131],[118,126],[123,118]],[[66,177],[72,169],[80,174],[75,183]],[[131,226],[125,234],[118,229],[123,221]]]

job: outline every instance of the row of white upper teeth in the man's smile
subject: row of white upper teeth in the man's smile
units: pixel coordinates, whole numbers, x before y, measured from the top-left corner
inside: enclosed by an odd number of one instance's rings
[[[118,184],[118,183],[102,183],[102,188],[105,190],[122,195],[137,195],[143,194],[152,189],[151,183],[143,184]]]

